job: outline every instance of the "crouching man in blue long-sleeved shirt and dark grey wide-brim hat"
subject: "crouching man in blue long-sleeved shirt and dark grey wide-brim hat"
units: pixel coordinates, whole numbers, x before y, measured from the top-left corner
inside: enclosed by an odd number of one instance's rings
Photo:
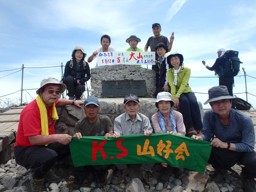
[[[193,135],[196,140],[211,141],[212,152],[208,163],[215,169],[211,180],[220,182],[234,164],[245,165],[240,174],[246,192],[256,191],[256,152],[254,128],[251,117],[231,108],[232,100],[226,86],[209,89],[212,109],[204,114],[204,128],[201,136]],[[214,139],[214,135],[216,138]]]

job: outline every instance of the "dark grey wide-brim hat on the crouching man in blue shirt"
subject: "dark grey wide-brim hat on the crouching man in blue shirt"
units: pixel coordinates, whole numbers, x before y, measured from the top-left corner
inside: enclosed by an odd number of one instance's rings
[[[236,99],[236,97],[229,95],[228,88],[223,85],[214,86],[210,88],[208,90],[208,94],[209,94],[209,99],[204,102],[204,105],[212,101],[217,101],[221,99]]]

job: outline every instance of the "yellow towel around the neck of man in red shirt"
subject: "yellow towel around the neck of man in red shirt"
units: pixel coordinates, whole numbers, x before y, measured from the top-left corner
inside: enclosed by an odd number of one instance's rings
[[[45,107],[44,102],[42,101],[40,95],[38,95],[36,97],[36,103],[38,105],[38,108],[40,111],[40,118],[41,118],[40,135],[49,135],[47,110],[46,110],[46,107]],[[52,119],[53,120],[59,119],[56,108],[55,108],[55,103],[52,105]],[[45,145],[45,146],[47,146],[47,145]]]

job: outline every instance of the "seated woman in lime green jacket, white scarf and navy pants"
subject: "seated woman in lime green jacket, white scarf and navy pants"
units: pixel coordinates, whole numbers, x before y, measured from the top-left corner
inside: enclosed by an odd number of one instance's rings
[[[180,107],[187,136],[201,135],[203,124],[195,93],[188,86],[191,70],[182,66],[183,55],[172,52],[167,57],[170,69],[167,70],[168,83],[171,87],[174,107]]]

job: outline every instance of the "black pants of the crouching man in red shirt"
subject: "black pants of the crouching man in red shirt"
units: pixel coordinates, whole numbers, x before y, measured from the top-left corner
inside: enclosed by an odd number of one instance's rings
[[[69,145],[63,145],[59,142],[44,145],[33,145],[29,147],[16,146],[14,155],[17,164],[23,167],[33,166],[35,172],[34,179],[43,179],[55,162],[59,162],[70,154]]]

